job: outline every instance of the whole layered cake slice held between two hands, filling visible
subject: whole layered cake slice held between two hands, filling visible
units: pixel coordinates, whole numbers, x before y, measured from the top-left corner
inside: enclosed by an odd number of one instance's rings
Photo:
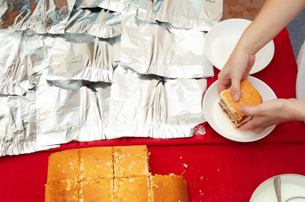
[[[219,94],[219,105],[221,106],[223,112],[231,120],[235,128],[238,128],[252,118],[240,113],[238,111],[240,107],[256,106],[263,102],[259,92],[248,82],[248,80],[243,80],[240,82],[240,91],[240,99],[236,102],[233,101],[231,87]]]

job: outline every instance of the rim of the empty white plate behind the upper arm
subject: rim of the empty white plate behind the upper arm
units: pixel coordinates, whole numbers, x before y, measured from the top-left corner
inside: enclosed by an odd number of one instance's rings
[[[250,22],[250,23],[252,22],[251,20],[244,19],[244,18],[231,18],[231,19],[225,19],[225,20],[223,20],[223,21],[217,23],[216,25],[214,25],[214,26],[210,29],[210,31],[213,30],[213,28],[215,29],[215,28],[221,26],[221,25],[224,24],[224,23],[228,23],[229,21],[245,21],[245,22]],[[209,38],[209,35],[210,35],[210,34],[209,34],[210,31],[206,34],[206,37],[205,37],[205,41],[204,41],[205,47],[206,47],[206,44],[207,44],[207,38]],[[271,39],[271,40],[266,44],[266,46],[267,46],[268,44],[270,44],[269,46],[271,46],[271,49],[272,49],[272,57],[270,57],[270,59],[268,60],[267,65],[266,65],[265,67],[258,68],[257,70],[254,70],[254,71],[252,71],[252,69],[251,69],[250,72],[249,72],[249,75],[255,74],[255,73],[257,73],[257,72],[263,70],[263,69],[266,68],[266,67],[270,64],[270,62],[272,61],[272,59],[273,59],[273,57],[274,57],[274,52],[275,52],[275,46],[274,46],[274,41],[273,41],[273,39]],[[206,54],[208,60],[210,61],[210,63],[212,63],[212,65],[213,65],[215,68],[217,68],[218,70],[221,71],[222,68],[216,67],[216,66],[213,64],[214,62],[211,61],[212,56],[211,56],[211,54],[209,54],[209,53],[207,52],[207,49],[205,48],[204,50],[205,50],[205,54]]]

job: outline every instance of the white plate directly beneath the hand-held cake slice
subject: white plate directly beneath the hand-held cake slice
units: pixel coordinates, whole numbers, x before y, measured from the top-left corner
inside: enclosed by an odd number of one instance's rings
[[[256,88],[261,94],[263,102],[276,99],[276,95],[272,89],[255,77],[248,76],[248,81]],[[218,95],[218,81],[211,84],[208,88],[204,99],[203,99],[203,110],[206,119],[210,126],[220,135],[238,142],[251,142],[261,139],[268,135],[274,128],[270,126],[266,128],[262,133],[255,134],[251,131],[241,131],[233,127],[229,118],[222,112],[219,106],[219,95]]]

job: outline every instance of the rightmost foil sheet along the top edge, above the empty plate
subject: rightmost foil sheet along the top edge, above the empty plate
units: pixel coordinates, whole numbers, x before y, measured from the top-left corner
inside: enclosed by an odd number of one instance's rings
[[[136,0],[138,19],[169,22],[176,27],[209,31],[223,13],[223,0]]]

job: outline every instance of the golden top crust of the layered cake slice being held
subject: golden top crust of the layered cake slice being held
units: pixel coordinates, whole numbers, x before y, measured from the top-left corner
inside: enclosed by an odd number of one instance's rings
[[[222,91],[219,96],[232,109],[238,120],[242,119],[244,114],[240,113],[238,109],[242,106],[256,106],[263,102],[259,92],[251,85],[248,80],[243,80],[240,83],[241,97],[239,101],[235,102],[232,99],[231,87]]]

